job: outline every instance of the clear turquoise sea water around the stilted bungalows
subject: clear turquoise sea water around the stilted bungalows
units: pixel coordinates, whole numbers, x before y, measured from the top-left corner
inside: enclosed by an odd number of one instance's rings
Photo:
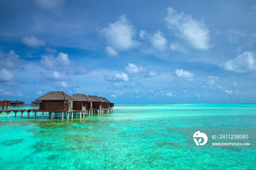
[[[256,128],[256,104],[116,105],[81,120],[6,115],[3,170],[256,169],[255,149],[185,147],[185,128]]]

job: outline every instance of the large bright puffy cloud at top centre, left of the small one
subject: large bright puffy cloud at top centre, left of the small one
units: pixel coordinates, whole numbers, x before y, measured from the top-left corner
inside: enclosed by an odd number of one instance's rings
[[[125,15],[121,15],[108,27],[102,28],[101,34],[105,36],[109,46],[116,51],[125,51],[140,45],[134,40],[136,30]]]

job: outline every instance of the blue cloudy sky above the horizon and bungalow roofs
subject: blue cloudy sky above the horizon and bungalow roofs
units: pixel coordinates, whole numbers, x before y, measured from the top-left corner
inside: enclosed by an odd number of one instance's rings
[[[255,0],[0,0],[0,100],[256,103]]]

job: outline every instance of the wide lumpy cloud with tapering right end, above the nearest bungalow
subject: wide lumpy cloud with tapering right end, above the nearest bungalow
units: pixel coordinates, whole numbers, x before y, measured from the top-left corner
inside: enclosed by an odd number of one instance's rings
[[[88,72],[84,66],[69,60],[65,53],[59,53],[57,57],[42,55],[40,64],[45,69],[65,71],[68,74],[85,74]]]

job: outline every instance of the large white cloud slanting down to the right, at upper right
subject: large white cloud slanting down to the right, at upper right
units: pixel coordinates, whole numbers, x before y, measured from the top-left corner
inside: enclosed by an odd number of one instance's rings
[[[177,32],[176,36],[184,41],[184,45],[200,50],[210,48],[210,31],[203,21],[194,20],[191,15],[185,13],[178,14],[173,8],[168,8],[167,12],[165,18],[167,27]]]

